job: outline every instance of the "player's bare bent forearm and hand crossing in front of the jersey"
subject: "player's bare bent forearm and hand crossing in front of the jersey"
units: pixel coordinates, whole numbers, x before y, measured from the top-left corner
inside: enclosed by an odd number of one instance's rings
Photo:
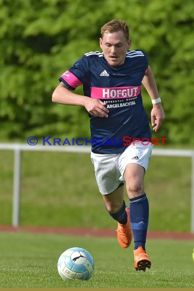
[[[76,94],[61,82],[54,90],[52,101],[65,105],[84,106],[86,110],[93,116],[108,117],[108,109],[106,103],[99,99],[92,99],[87,96]]]

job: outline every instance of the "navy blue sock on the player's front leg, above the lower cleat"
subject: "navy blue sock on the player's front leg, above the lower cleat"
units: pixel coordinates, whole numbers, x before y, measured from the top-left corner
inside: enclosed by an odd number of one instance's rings
[[[148,221],[149,221],[149,203],[146,193],[135,197],[130,201],[130,220],[134,237],[134,249],[141,246],[145,250]]]

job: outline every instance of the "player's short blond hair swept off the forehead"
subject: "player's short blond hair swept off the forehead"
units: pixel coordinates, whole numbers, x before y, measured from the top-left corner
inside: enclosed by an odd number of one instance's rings
[[[124,20],[113,19],[101,28],[101,37],[103,38],[104,33],[113,33],[117,31],[123,31],[124,36],[126,39],[129,39],[129,27]]]

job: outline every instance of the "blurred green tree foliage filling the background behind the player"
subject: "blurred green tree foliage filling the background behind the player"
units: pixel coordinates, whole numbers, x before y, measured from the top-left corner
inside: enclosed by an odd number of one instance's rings
[[[129,23],[131,49],[150,58],[166,112],[153,136],[193,144],[193,0],[0,0],[1,139],[89,137],[86,110],[51,95],[62,72],[100,50],[100,28],[113,18]],[[143,102],[150,114],[144,90]]]

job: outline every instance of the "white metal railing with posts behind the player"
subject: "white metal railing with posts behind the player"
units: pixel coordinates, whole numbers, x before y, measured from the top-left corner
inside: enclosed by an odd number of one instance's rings
[[[20,164],[22,151],[42,151],[42,152],[71,152],[90,153],[87,146],[29,146],[21,143],[0,143],[0,150],[14,151],[14,181],[13,181],[13,211],[12,225],[19,225],[19,204],[20,204]],[[190,157],[191,158],[191,232],[194,233],[194,150],[169,150],[153,149],[154,156]]]

